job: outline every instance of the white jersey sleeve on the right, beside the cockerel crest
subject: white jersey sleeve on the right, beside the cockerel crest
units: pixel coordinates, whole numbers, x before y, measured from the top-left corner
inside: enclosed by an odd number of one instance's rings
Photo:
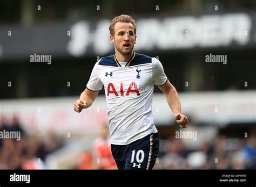
[[[161,86],[167,82],[168,78],[164,73],[164,68],[159,60],[152,58],[152,81],[154,84]]]

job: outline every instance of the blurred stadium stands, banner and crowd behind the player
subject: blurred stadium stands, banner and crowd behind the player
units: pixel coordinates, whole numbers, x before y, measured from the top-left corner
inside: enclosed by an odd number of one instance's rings
[[[134,51],[158,57],[180,95],[190,118],[182,131],[197,132],[196,140],[176,138],[180,128],[156,87],[154,169],[255,169],[255,9],[253,0],[2,0],[0,128],[22,138],[0,139],[0,168],[100,168],[93,143],[107,123],[104,92],[82,113],[73,103],[96,61],[113,54],[109,22],[125,13],[137,21]],[[30,62],[34,54],[51,55],[51,64]],[[210,54],[227,63],[206,62]]]

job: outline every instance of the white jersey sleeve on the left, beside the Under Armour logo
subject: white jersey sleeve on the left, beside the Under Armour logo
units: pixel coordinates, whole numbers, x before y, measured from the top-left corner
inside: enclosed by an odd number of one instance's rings
[[[103,83],[99,78],[99,61],[93,67],[90,79],[86,85],[86,88],[91,91],[100,91],[103,87]]]

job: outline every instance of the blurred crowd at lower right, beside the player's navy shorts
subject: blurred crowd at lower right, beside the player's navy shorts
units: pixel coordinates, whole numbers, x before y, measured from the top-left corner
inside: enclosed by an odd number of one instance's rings
[[[256,136],[218,135],[213,142],[192,150],[172,136],[161,146],[164,150],[154,169],[256,169]]]

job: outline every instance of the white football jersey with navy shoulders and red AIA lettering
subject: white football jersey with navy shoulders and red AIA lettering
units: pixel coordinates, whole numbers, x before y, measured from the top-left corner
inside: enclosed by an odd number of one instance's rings
[[[152,116],[154,84],[166,82],[160,61],[143,54],[133,52],[125,66],[115,55],[95,64],[86,88],[99,91],[104,85],[112,144],[127,145],[157,132]]]

